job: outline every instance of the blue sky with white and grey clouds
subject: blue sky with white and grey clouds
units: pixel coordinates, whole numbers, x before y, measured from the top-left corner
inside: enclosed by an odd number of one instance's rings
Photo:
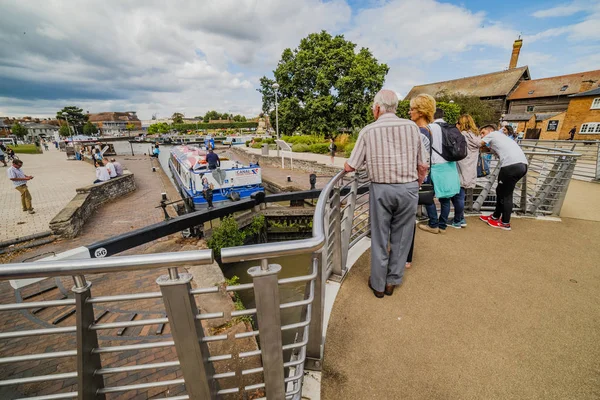
[[[0,0],[0,116],[256,116],[260,77],[321,30],[369,48],[401,96],[506,69],[519,35],[533,79],[589,71],[598,21],[600,0]]]

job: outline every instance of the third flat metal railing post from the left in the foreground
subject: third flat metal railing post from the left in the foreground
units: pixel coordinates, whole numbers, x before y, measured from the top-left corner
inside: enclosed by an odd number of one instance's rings
[[[265,379],[266,397],[285,398],[283,344],[281,338],[281,313],[279,310],[279,285],[277,275],[281,265],[261,260],[260,267],[248,269],[254,283],[258,337]]]

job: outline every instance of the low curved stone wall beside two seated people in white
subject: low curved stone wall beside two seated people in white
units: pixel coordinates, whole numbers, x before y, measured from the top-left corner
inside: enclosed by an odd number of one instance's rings
[[[134,176],[127,170],[118,178],[79,188],[73,200],[50,221],[50,230],[56,236],[74,238],[98,207],[135,189]]]

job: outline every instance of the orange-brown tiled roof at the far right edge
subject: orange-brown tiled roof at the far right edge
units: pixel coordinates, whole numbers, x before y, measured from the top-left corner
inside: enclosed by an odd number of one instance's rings
[[[595,81],[594,86],[600,82],[600,70],[524,81],[521,82],[519,87],[508,97],[508,100],[567,96],[579,93],[582,83],[590,80]]]

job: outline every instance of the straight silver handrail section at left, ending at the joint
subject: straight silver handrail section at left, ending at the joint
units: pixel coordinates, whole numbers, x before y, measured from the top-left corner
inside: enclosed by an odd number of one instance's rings
[[[100,274],[105,272],[133,271],[145,268],[178,267],[181,266],[181,264],[193,262],[203,264],[212,263],[212,250],[3,264],[2,268],[0,268],[0,280]]]

